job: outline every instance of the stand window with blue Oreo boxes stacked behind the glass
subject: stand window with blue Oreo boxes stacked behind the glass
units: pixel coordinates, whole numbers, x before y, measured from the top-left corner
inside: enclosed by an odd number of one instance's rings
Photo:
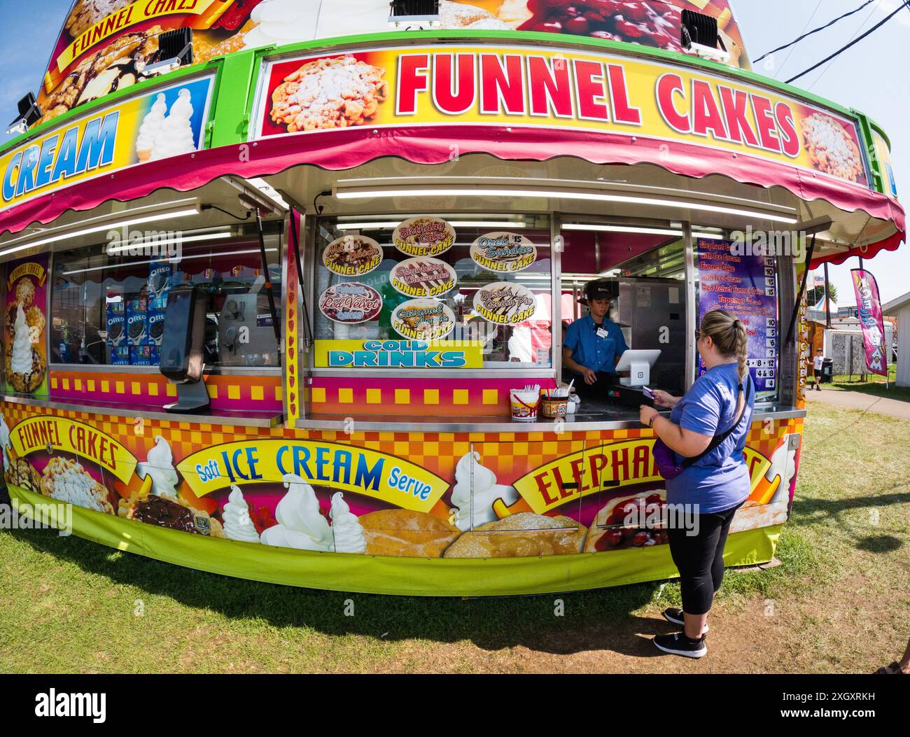
[[[277,367],[273,320],[280,319],[280,223],[266,223],[265,289],[258,235],[248,226],[126,239],[57,253],[51,289],[50,353],[57,364],[147,366],[158,348],[170,288],[194,285],[208,296],[208,366]],[[280,323],[279,323],[280,324]]]

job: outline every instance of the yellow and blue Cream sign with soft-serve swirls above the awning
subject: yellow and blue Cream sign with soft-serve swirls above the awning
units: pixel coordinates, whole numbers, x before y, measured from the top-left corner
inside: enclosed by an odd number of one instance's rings
[[[197,151],[205,141],[214,76],[155,89],[76,118],[0,156],[0,209],[147,161]]]

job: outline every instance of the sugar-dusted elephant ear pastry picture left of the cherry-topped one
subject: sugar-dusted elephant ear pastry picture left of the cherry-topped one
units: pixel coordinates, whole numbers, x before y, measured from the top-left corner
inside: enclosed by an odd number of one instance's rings
[[[588,530],[569,517],[519,512],[465,532],[446,558],[525,558],[580,553]]]

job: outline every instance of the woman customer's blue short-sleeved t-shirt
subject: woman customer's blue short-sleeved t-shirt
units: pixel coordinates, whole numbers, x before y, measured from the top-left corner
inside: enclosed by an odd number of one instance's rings
[[[738,388],[735,363],[715,366],[695,381],[673,408],[670,419],[682,429],[701,435],[721,435],[736,419]],[[749,496],[751,482],[743,448],[752,426],[755,388],[748,374],[743,386],[746,392],[748,404],[736,429],[717,448],[675,479],[667,480],[668,504],[698,504],[700,513],[712,514],[730,510]],[[677,463],[683,459],[676,455]]]

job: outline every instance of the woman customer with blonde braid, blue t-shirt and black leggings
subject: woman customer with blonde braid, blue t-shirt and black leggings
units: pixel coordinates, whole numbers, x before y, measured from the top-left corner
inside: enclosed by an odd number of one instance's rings
[[[704,635],[714,593],[723,581],[723,546],[733,514],[749,496],[743,448],[755,404],[743,323],[732,312],[713,310],[702,319],[695,340],[705,373],[682,398],[654,392],[656,404],[672,408],[670,419],[641,408],[642,423],[672,451],[677,464],[678,475],[666,481],[667,504],[685,505],[672,506],[685,515],[670,516],[667,530],[680,572],[682,610],[663,611],[664,619],[682,625],[683,631],[658,635],[653,642],[664,652],[689,658],[708,651]]]

